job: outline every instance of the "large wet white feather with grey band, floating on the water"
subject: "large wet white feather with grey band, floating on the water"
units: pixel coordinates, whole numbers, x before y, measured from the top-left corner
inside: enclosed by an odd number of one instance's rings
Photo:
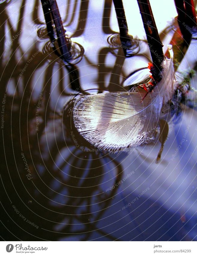
[[[168,50],[162,79],[145,98],[145,90],[80,96],[73,109],[77,131],[96,148],[114,153],[152,140],[161,108],[175,89],[171,46]]]

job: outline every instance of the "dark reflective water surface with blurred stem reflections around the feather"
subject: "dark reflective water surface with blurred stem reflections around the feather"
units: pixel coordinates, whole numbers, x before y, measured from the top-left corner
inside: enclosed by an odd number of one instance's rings
[[[166,50],[177,29],[174,6],[163,6],[168,11],[161,22],[158,4],[151,2]],[[128,152],[100,152],[72,125],[67,103],[79,90],[71,88],[68,69],[52,52],[41,3],[1,3],[2,240],[196,240],[195,93],[176,119],[172,111],[159,163],[158,135]],[[57,4],[67,35],[84,48],[73,62],[82,91],[120,90],[129,74],[147,67],[135,1],[125,1],[129,33],[139,43],[130,58],[108,43],[118,32],[112,1]],[[190,79],[193,87],[195,81]]]

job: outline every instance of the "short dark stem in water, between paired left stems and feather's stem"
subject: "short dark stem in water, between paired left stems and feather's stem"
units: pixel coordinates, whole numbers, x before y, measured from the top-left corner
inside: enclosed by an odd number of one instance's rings
[[[128,35],[128,26],[126,22],[126,16],[125,11],[123,7],[122,0],[113,0],[114,7],[116,10],[116,16],[118,20],[118,26],[120,30],[120,41],[123,45],[126,45],[128,47],[132,47],[131,40],[133,39],[131,36]]]

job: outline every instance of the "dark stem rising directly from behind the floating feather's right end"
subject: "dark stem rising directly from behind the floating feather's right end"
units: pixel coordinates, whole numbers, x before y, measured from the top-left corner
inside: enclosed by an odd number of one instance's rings
[[[146,32],[150,54],[156,72],[153,72],[153,78],[158,80],[158,75],[161,72],[161,63],[164,60],[163,44],[160,40],[159,33],[153,17],[153,12],[149,0],[137,0],[140,9],[144,30]]]

